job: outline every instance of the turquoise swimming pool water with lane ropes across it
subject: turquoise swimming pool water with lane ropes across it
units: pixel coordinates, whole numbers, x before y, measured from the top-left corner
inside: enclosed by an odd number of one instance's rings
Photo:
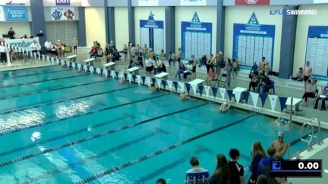
[[[266,149],[278,131],[287,132],[261,114],[222,114],[215,103],[57,66],[0,76],[0,183],[76,183],[94,175],[90,183],[183,183],[191,156],[212,173],[215,155],[237,148],[246,167],[254,141]],[[292,153],[305,147],[299,130],[293,125]]]

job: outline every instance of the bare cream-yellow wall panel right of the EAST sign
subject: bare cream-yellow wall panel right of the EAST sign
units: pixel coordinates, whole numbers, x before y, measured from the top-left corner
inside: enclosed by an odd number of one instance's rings
[[[98,41],[102,47],[106,43],[105,10],[102,8],[85,8],[86,15],[86,45],[92,46]]]

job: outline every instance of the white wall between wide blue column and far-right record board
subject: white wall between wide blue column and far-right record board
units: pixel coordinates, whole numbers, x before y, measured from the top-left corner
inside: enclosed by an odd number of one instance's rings
[[[299,10],[317,10],[316,15],[299,15],[297,19],[293,74],[304,68],[309,25],[328,26],[328,4],[299,6]]]

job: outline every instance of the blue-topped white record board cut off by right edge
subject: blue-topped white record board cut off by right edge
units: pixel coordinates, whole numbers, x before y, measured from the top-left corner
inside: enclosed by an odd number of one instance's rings
[[[309,26],[307,34],[307,54],[312,74],[316,79],[328,79],[328,26]]]

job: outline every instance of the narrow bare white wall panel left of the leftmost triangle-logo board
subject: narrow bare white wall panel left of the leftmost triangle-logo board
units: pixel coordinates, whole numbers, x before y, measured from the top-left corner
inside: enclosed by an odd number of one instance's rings
[[[115,7],[114,13],[116,47],[122,50],[124,44],[128,45],[128,8]]]

